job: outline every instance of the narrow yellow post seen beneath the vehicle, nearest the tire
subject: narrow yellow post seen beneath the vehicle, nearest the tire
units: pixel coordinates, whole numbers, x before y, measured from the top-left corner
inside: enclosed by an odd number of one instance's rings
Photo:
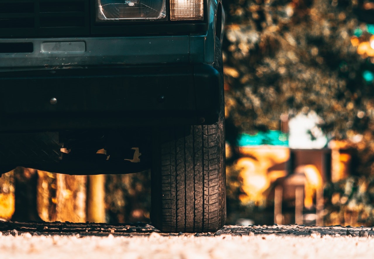
[[[89,222],[105,222],[104,174],[88,176],[87,220]]]

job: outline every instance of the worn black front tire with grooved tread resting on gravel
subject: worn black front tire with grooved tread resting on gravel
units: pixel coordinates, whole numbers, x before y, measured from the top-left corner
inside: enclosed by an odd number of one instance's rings
[[[222,124],[169,129],[152,168],[151,221],[162,232],[215,232],[226,220]],[[156,152],[154,153],[156,154]]]

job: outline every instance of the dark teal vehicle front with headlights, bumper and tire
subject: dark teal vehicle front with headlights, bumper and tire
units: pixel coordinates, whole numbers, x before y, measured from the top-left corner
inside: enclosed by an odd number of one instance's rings
[[[162,232],[226,220],[221,0],[0,0],[0,174],[151,170]]]

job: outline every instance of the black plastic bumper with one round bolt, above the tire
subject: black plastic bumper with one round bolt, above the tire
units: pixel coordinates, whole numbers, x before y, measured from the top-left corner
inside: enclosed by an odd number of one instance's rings
[[[205,64],[0,72],[0,131],[212,124],[220,85]]]

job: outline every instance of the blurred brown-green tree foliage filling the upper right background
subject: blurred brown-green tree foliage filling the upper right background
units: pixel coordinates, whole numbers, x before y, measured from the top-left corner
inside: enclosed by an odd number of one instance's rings
[[[365,150],[362,159],[365,173],[370,174],[374,58],[369,52],[359,55],[359,44],[352,42],[369,42],[373,31],[366,22],[374,17],[374,5],[368,3],[225,1],[226,116],[234,128],[239,132],[279,129],[282,113],[294,116],[314,110],[330,137],[365,140],[358,147]],[[373,16],[359,20],[360,14],[370,12]]]

